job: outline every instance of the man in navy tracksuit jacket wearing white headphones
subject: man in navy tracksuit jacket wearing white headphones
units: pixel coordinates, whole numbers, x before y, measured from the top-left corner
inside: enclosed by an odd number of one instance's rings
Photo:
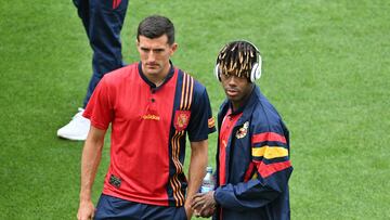
[[[218,115],[216,189],[193,198],[199,216],[290,219],[288,130],[253,82],[260,70],[259,51],[248,41],[227,43],[217,60],[227,100]]]

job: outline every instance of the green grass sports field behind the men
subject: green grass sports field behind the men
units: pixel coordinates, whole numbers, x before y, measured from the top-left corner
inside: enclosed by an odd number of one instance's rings
[[[91,76],[84,30],[70,0],[3,0],[0,11],[0,219],[76,219],[82,143],[56,130]],[[130,0],[123,56],[138,61],[143,17],[170,17],[172,61],[207,87],[217,115],[217,53],[252,41],[264,62],[258,83],[291,134],[291,218],[390,219],[389,11],[388,0]],[[108,146],[107,137],[94,200]]]

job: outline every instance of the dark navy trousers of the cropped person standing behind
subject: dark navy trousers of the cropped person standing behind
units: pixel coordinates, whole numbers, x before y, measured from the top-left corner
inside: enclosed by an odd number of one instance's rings
[[[120,30],[125,22],[129,0],[73,1],[93,50],[93,73],[83,101],[83,107],[86,107],[94,88],[104,74],[123,66]]]

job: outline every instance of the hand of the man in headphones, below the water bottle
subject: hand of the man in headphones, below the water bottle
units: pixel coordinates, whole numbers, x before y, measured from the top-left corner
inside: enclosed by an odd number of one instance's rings
[[[191,207],[195,210],[196,217],[208,218],[216,211],[217,202],[213,197],[214,192],[197,193],[191,203]]]

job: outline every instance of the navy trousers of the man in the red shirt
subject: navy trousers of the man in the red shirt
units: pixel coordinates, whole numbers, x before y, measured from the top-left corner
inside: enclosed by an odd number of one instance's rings
[[[184,207],[153,206],[102,194],[94,220],[186,220]]]

